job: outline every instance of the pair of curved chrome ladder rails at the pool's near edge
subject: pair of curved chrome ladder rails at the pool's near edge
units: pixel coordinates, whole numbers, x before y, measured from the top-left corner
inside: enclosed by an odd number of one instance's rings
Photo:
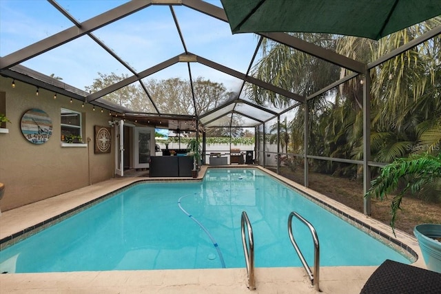
[[[305,258],[303,257],[302,252],[298,248],[298,245],[296,243],[296,240],[294,240],[294,235],[292,233],[292,218],[293,217],[298,218],[301,222],[307,225],[309,228],[309,231],[311,231],[312,238],[314,240],[314,273],[311,271],[311,268],[309,267],[308,263],[306,262]],[[247,235],[245,234],[245,225],[247,227],[247,233],[248,233],[248,243],[249,248],[247,244]],[[248,288],[249,290],[255,290],[256,289],[256,280],[254,279],[254,237],[253,237],[253,228],[251,226],[251,223],[249,222],[249,218],[247,216],[247,213],[245,211],[242,211],[242,217],[240,219],[240,228],[242,230],[242,244],[243,244],[243,253],[245,254],[245,264],[247,265],[247,273],[248,273]],[[288,234],[289,239],[291,240],[292,245],[294,246],[294,249],[296,249],[296,253],[298,255],[298,258],[300,258],[300,262],[302,262],[303,267],[305,268],[305,271],[308,274],[309,280],[311,280],[312,286],[314,286],[314,289],[318,292],[320,292],[319,287],[319,276],[320,276],[320,246],[318,243],[318,236],[316,229],[314,229],[313,225],[305,220],[305,218],[302,218],[300,214],[296,213],[296,211],[292,211],[289,213],[288,217]]]

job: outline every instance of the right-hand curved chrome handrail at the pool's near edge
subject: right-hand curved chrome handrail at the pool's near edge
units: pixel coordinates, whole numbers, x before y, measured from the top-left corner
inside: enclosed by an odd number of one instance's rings
[[[301,220],[304,224],[307,225],[309,228],[309,231],[311,231],[312,238],[314,240],[314,274],[311,272],[311,269],[309,268],[308,263],[306,262],[305,258],[303,257],[302,253],[300,252],[300,249],[297,246],[296,241],[294,240],[294,236],[292,234],[292,218],[295,216],[299,220]],[[289,233],[289,239],[291,239],[291,243],[294,246],[294,249],[296,249],[298,258],[300,258],[300,261],[303,264],[303,267],[308,273],[309,280],[311,280],[311,284],[314,286],[314,289],[316,291],[320,291],[320,288],[318,286],[318,280],[320,275],[320,246],[318,244],[318,236],[316,233],[316,229],[310,224],[305,218],[302,218],[298,213],[295,211],[292,211],[289,213],[288,217],[288,233]]]

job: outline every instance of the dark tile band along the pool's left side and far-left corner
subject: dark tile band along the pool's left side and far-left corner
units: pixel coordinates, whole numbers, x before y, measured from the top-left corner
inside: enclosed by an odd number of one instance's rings
[[[39,222],[38,224],[34,224],[28,228],[23,229],[22,231],[18,231],[16,233],[13,233],[12,235],[8,235],[0,240],[0,251],[3,249],[8,248],[9,246],[16,244],[22,240],[25,240],[25,238],[30,237],[31,235],[34,235],[36,233],[39,233],[40,231],[43,231],[44,229],[53,226],[54,224],[57,224],[66,218],[70,218],[71,216],[74,216],[76,213],[80,213],[81,211],[85,209],[89,209],[93,205],[98,204],[99,202],[103,202],[107,198],[110,198],[114,196],[116,193],[120,193],[122,191],[125,191],[127,189],[130,189],[131,187],[134,187],[136,185],[143,184],[145,182],[194,182],[194,181],[201,181],[203,178],[191,178],[191,179],[154,179],[154,180],[145,180],[140,179],[136,182],[132,182],[128,185],[125,185],[124,187],[121,187],[119,189],[116,189],[110,193],[106,193],[103,196],[99,196],[97,198],[94,198],[88,202],[85,202],[83,204],[80,204],[77,207],[74,207],[72,209],[69,209],[68,211],[64,211],[63,213],[60,213],[57,216],[52,216],[51,218],[48,218],[47,220],[43,220],[43,222]]]

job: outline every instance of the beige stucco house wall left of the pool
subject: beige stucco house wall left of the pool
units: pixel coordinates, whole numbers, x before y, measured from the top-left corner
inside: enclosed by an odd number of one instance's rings
[[[39,89],[0,76],[0,112],[6,112],[11,123],[8,133],[0,133],[0,182],[5,193],[0,200],[1,211],[50,198],[79,189],[114,176],[114,150],[94,154],[94,126],[108,127],[108,112],[81,106],[80,101]],[[3,106],[2,106],[3,105]],[[3,110],[3,109],[4,110]],[[52,136],[48,142],[36,145],[21,133],[23,114],[32,108],[41,109],[52,119]],[[87,147],[61,147],[61,108],[82,113],[83,141]],[[113,139],[113,129],[112,129]]]

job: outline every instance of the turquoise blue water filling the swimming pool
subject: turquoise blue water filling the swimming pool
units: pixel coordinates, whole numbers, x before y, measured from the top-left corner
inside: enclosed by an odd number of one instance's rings
[[[316,228],[321,266],[409,264],[393,249],[258,169],[212,169],[203,182],[142,183],[0,251],[0,272],[245,267],[240,216],[254,230],[257,267],[301,266],[287,219]],[[311,233],[294,218],[309,264]]]

